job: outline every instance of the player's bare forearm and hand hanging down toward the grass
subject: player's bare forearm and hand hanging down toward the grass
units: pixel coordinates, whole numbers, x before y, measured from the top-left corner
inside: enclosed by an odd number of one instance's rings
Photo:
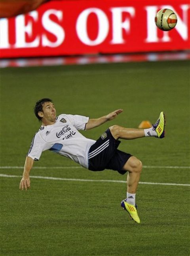
[[[24,167],[24,171],[23,171],[23,177],[21,179],[20,182],[20,186],[19,189],[23,190],[27,190],[30,188],[30,170],[32,169],[34,163],[34,159],[32,159],[31,157],[27,156],[26,161],[25,161],[25,167]]]

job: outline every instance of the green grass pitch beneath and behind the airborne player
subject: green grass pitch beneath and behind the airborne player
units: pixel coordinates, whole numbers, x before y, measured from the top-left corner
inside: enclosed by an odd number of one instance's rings
[[[190,184],[190,169],[183,168],[190,166],[189,67],[189,61],[175,61],[1,69],[0,173],[16,177],[0,177],[0,254],[190,255],[189,186],[147,184]],[[30,175],[76,180],[31,178],[30,190],[19,191],[23,169],[15,167],[24,165],[40,126],[33,106],[44,97],[54,100],[57,114],[96,118],[124,110],[117,119],[82,132],[92,139],[110,125],[137,128],[165,112],[165,139],[123,140],[119,146],[145,166],[145,184],[139,184],[136,196],[141,224],[120,207],[125,183],[77,181],[125,181],[126,175],[77,168],[49,151],[34,164],[47,168],[34,168]]]

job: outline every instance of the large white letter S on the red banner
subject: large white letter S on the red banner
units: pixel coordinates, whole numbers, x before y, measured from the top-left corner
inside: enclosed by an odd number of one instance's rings
[[[57,37],[56,42],[51,42],[48,40],[45,34],[42,35],[42,46],[49,46],[49,47],[57,47],[61,45],[65,39],[65,31],[63,27],[59,24],[55,23],[50,19],[50,15],[55,15],[59,21],[63,19],[63,12],[59,10],[50,9],[47,10],[44,15],[42,16],[42,25],[44,29],[46,29],[49,33],[52,33]]]

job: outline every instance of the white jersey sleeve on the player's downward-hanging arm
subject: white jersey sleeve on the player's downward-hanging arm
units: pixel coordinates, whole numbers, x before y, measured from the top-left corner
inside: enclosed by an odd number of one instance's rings
[[[31,157],[32,159],[38,161],[42,154],[42,138],[39,133],[36,133],[32,139],[29,151],[27,156]]]

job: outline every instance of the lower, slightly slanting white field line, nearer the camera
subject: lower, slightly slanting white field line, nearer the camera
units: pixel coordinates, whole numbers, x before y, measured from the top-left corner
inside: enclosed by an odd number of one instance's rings
[[[6,178],[18,178],[22,177],[21,175],[7,175],[0,174],[0,177]],[[66,179],[66,178],[56,178],[56,177],[44,177],[44,176],[30,176],[34,179],[50,179],[56,181],[86,181],[86,182],[114,182],[114,183],[126,183],[126,181],[116,181],[116,180],[106,180],[106,179]],[[177,184],[177,183],[154,183],[154,182],[139,182],[139,184],[148,184],[148,185],[171,185],[171,186],[190,186],[190,184]]]

